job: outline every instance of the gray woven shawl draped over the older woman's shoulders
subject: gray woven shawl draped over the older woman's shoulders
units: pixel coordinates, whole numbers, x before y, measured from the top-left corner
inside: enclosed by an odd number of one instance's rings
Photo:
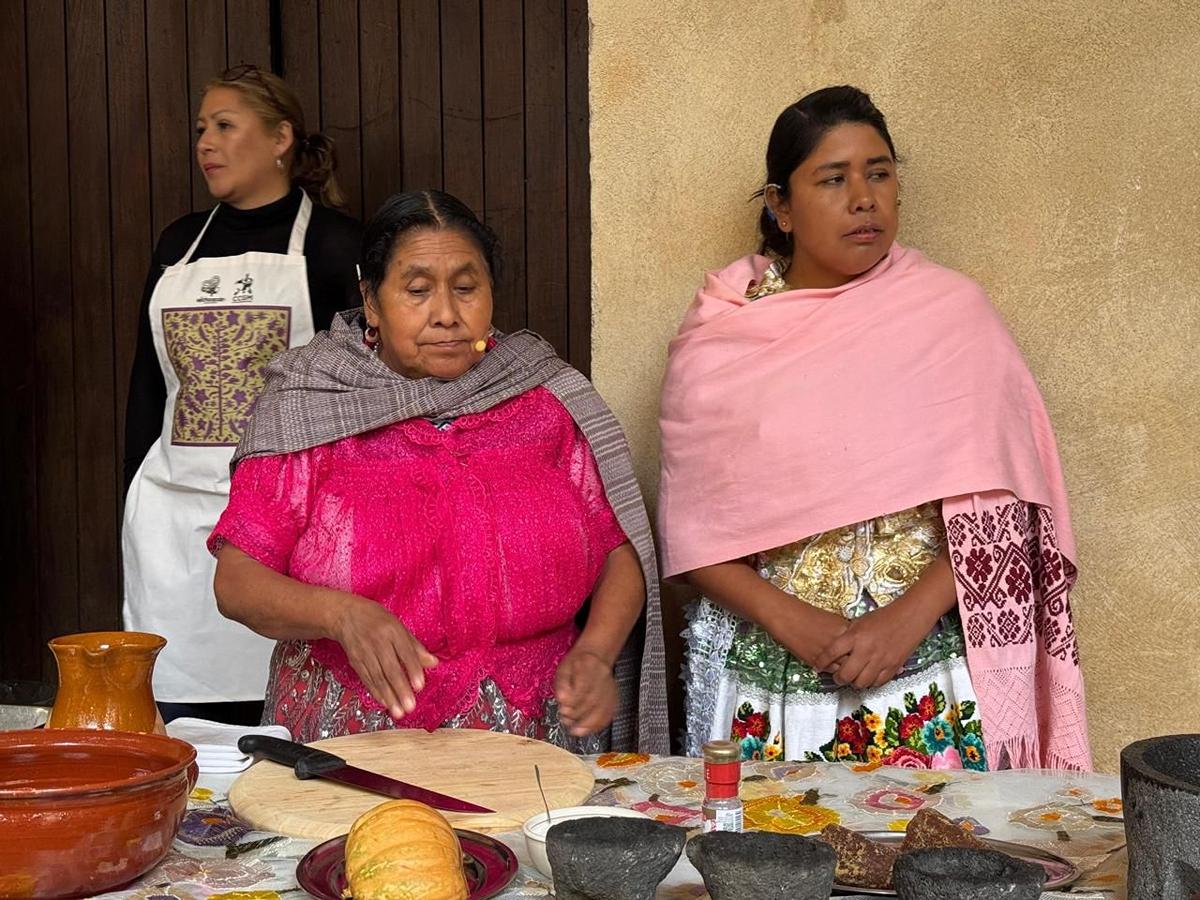
[[[413,380],[388,368],[362,344],[361,310],[342,312],[329,331],[266,366],[265,388],[230,469],[248,456],[307,450],[406,419],[481,413],[545,386],[590,445],[608,504],[637,551],[646,580],[644,628],[635,631],[617,660],[612,748],[667,754],[658,563],[625,434],[588,379],[542,338],[530,331],[496,337],[484,359],[452,382]]]

